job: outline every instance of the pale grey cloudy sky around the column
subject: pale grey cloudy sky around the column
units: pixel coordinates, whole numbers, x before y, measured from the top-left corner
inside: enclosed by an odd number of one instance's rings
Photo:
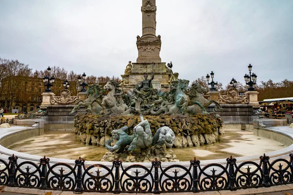
[[[293,0],[156,0],[162,62],[190,81],[293,79]],[[0,57],[120,76],[138,56],[142,0],[0,0]]]

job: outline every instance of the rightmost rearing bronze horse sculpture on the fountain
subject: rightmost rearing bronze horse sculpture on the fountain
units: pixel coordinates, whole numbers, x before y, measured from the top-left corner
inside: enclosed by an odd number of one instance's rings
[[[207,92],[207,89],[205,87],[203,87],[202,85],[200,84],[197,84],[197,83],[193,83],[191,85],[191,88],[189,90],[189,96],[192,100],[194,101],[197,101],[199,102],[201,105],[203,105],[203,107],[205,109],[208,108],[208,106],[211,104],[211,103],[214,103],[215,104],[215,108],[214,110],[215,111],[222,111],[222,107],[221,105],[214,101],[214,100],[208,100],[206,98],[203,97],[202,93],[204,92]],[[188,113],[189,114],[198,114],[198,113],[201,113],[201,109],[197,106],[190,106],[188,107]]]

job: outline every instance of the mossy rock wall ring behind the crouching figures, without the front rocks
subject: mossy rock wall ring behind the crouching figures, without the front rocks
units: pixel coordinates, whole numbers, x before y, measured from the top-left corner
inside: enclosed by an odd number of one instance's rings
[[[214,114],[209,115],[160,115],[145,116],[152,134],[162,126],[170,127],[175,133],[173,147],[199,146],[216,142],[222,120]],[[128,126],[129,132],[140,122],[139,116],[95,116],[78,114],[74,117],[73,132],[84,144],[105,146],[111,139],[111,131]]]

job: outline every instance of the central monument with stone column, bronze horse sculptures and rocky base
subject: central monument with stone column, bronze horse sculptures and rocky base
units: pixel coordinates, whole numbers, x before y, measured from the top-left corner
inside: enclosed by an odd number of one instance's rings
[[[128,62],[121,83],[110,80],[104,88],[89,85],[88,98],[79,100],[70,113],[86,108],[87,114],[74,117],[73,132],[84,144],[105,146],[109,152],[102,161],[149,162],[155,157],[179,161],[172,147],[211,144],[223,134],[221,117],[207,112],[211,103],[221,111],[220,104],[203,97],[207,91],[203,86],[193,84],[189,89],[189,80],[173,73],[172,62],[167,66],[161,62],[155,0],[142,2],[136,63]]]

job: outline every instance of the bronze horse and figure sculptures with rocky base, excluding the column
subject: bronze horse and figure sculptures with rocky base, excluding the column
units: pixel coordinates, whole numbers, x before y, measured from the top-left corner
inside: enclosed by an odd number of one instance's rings
[[[87,114],[74,117],[73,132],[85,144],[105,146],[109,152],[101,161],[149,162],[154,157],[175,162],[172,147],[198,146],[214,143],[219,134],[222,120],[216,113],[207,113],[210,103],[215,109],[221,106],[208,101],[201,95],[206,90],[189,81],[174,80],[169,92],[152,87],[152,78],[140,82],[126,94],[120,83],[109,81],[104,86],[108,91],[102,97],[99,84],[89,85],[83,102]],[[189,98],[189,96],[190,98]],[[77,111],[80,103],[72,110]],[[95,109],[92,109],[95,108]]]

